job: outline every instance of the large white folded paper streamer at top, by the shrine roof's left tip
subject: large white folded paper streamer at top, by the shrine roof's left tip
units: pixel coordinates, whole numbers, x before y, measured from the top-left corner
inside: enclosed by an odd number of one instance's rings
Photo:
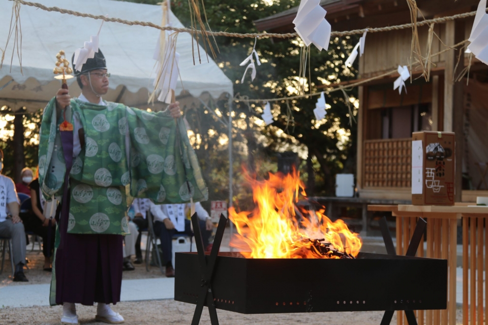
[[[327,50],[330,41],[331,27],[325,20],[324,8],[320,0],[301,0],[293,23],[295,30],[305,45],[314,44],[320,51]]]

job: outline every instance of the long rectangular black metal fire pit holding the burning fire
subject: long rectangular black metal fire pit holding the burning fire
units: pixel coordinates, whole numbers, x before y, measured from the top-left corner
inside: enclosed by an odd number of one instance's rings
[[[225,221],[221,216],[217,251]],[[198,247],[198,222],[194,229]],[[389,323],[394,310],[447,307],[443,259],[372,253],[355,259],[253,259],[217,251],[203,257],[202,245],[198,253],[175,254],[174,299],[197,305],[194,325],[204,305],[212,324],[218,323],[215,309],[243,314],[385,310],[382,323]],[[412,324],[413,312],[407,317]]]

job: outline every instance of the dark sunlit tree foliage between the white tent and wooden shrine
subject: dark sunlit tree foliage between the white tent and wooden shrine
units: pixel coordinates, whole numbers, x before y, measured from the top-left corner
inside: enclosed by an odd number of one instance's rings
[[[208,25],[212,30],[225,30],[237,33],[257,32],[253,21],[268,17],[298,5],[298,1],[279,0],[241,0],[222,2],[205,0]],[[185,25],[190,26],[190,11],[187,1],[173,0],[172,11]],[[202,19],[204,17],[202,16]],[[256,40],[252,38],[217,37],[219,53],[215,61],[226,76],[234,82],[234,93],[252,99],[283,98],[298,94],[300,51],[304,49],[301,40],[257,40],[256,50],[261,58],[257,67],[257,77],[251,81],[250,74],[245,82],[240,79],[245,67],[239,63],[251,54]],[[346,69],[344,61],[356,40],[335,38],[331,40],[328,51],[319,52],[314,46],[310,56],[310,85],[306,90],[320,91],[320,86],[333,82],[352,79],[355,69]],[[349,91],[355,97],[355,90]],[[313,156],[313,168],[318,181],[315,189],[318,193],[333,192],[333,176],[340,171],[354,172],[356,124],[350,123],[346,99],[341,91],[326,95],[330,105],[326,119],[315,121],[313,109],[317,97],[275,102],[273,115],[275,122],[264,126],[260,119],[264,103],[234,103],[236,121],[233,139],[237,146],[247,146],[247,166],[255,168],[260,160],[273,159],[274,152],[293,150],[302,152],[302,156]],[[355,114],[355,107],[351,104]],[[240,119],[240,121],[239,121]],[[342,141],[344,136],[349,139]],[[243,157],[246,158],[246,157]],[[302,166],[303,167],[303,166]],[[305,176],[307,172],[302,170]]]

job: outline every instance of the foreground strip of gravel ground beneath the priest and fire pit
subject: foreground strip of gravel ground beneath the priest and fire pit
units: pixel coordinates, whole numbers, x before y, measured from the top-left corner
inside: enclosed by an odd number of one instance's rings
[[[161,325],[190,324],[194,305],[173,300],[123,302],[113,309],[126,319],[126,324]],[[81,324],[100,324],[95,321],[96,307],[77,305]],[[379,325],[383,312],[345,312],[345,313],[308,313],[308,314],[261,314],[243,315],[225,310],[218,310],[221,324],[232,325],[284,325],[284,324],[327,324],[327,325]],[[28,307],[0,309],[0,324],[59,324],[62,307]],[[461,323],[461,310],[457,310],[457,323]],[[210,318],[204,308],[200,324],[209,325]],[[396,324],[396,315],[391,324]]]

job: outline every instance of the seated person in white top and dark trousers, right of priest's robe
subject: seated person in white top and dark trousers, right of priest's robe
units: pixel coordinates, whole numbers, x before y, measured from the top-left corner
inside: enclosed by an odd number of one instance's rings
[[[190,226],[191,221],[186,218],[187,212],[190,211],[190,204],[163,204],[155,207],[154,211],[151,209],[155,219],[154,232],[161,239],[161,249],[166,262],[166,276],[173,277],[174,269],[171,261],[173,258],[173,235],[193,236]],[[203,247],[205,248],[208,246],[208,238],[212,234],[214,224],[200,202],[195,203],[195,212],[200,219],[200,230],[202,232]]]

